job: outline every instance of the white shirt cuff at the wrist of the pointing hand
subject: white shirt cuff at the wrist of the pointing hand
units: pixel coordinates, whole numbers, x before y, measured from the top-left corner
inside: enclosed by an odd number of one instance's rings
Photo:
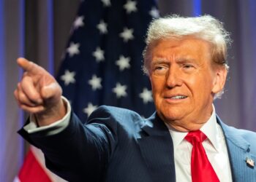
[[[35,116],[34,116],[34,114],[31,114],[29,117],[29,119],[30,119],[29,124],[26,124],[26,126],[24,126],[23,129],[29,133],[52,129],[50,132],[48,132],[48,135],[55,135],[55,134],[61,132],[62,130],[64,130],[67,127],[67,125],[69,124],[69,119],[71,116],[71,106],[70,106],[67,98],[64,98],[63,96],[61,98],[64,100],[64,103],[67,104],[67,114],[62,119],[60,119],[59,121],[53,122],[52,124],[49,124],[48,126],[37,127]]]

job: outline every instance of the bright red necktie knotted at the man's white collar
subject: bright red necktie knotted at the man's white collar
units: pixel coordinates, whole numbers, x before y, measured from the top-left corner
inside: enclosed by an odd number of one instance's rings
[[[206,151],[203,149],[202,142],[206,138],[206,135],[200,130],[189,132],[185,137],[193,145],[191,154],[192,182],[219,182],[219,178],[206,156]]]

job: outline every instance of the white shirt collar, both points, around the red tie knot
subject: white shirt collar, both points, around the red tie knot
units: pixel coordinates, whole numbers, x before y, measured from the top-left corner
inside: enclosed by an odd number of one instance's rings
[[[218,151],[219,143],[217,142],[217,138],[218,138],[219,132],[217,129],[217,119],[216,119],[215,108],[214,108],[214,105],[212,106],[213,106],[212,114],[208,119],[208,121],[206,122],[206,124],[203,124],[203,127],[200,128],[200,131],[207,136],[208,140],[214,146],[214,149]],[[179,132],[171,129],[170,127],[168,128],[170,131],[170,135],[173,139],[173,148],[176,149],[177,146],[184,140],[188,132]]]

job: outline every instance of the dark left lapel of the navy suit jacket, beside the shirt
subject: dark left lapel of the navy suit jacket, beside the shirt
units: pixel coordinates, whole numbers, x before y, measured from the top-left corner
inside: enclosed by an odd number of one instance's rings
[[[165,123],[153,114],[142,130],[138,144],[153,181],[176,181],[173,141]]]

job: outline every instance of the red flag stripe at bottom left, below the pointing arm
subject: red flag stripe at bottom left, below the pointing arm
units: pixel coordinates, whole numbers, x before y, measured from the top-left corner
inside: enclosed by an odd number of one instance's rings
[[[39,162],[31,150],[26,156],[26,159],[23,163],[23,166],[20,169],[20,173],[18,175],[20,182],[51,182],[47,173]]]

